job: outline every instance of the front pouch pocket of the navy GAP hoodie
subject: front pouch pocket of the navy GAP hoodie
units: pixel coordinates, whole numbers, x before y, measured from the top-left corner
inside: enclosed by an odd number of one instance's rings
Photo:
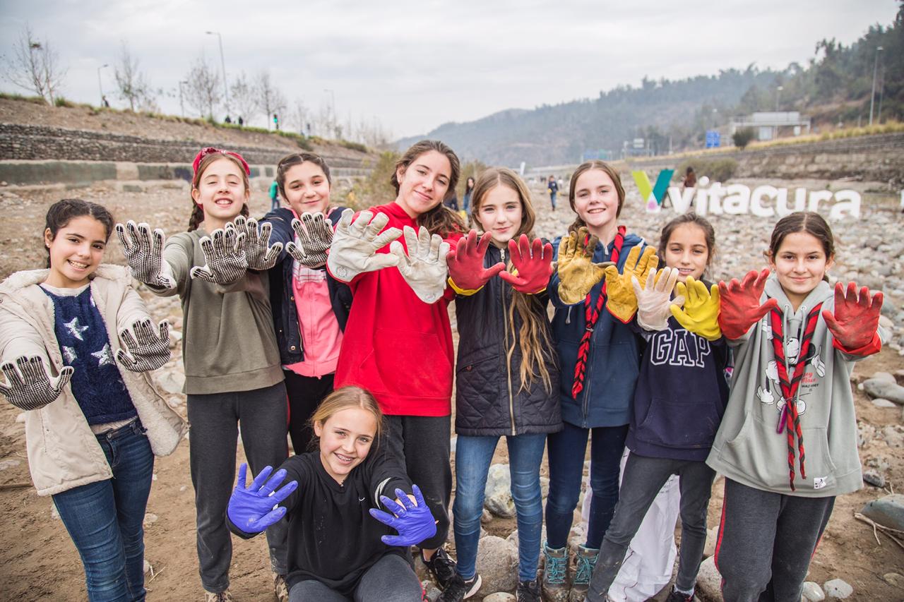
[[[654,397],[635,437],[677,449],[711,447],[720,416],[712,403],[681,403]]]

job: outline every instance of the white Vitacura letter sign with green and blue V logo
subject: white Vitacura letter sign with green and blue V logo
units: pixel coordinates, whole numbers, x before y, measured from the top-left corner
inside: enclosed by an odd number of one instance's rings
[[[631,174],[634,176],[641,198],[644,199],[646,211],[651,213],[662,210],[663,201],[668,194],[676,213],[686,213],[693,207],[693,211],[700,215],[751,213],[758,217],[784,217],[793,212],[819,212],[820,203],[831,202],[830,220],[839,220],[844,216],[860,219],[861,195],[854,190],[839,190],[834,193],[830,190],[815,190],[808,193],[805,188],[796,188],[793,202],[789,204],[787,188],[777,188],[768,184],[756,186],[751,190],[746,184],[734,183],[723,186],[720,182],[714,182],[707,188],[705,186],[709,180],[703,177],[696,187],[685,188],[682,192],[678,186],[669,186],[674,174],[673,169],[661,171],[653,186],[650,185],[650,179],[645,172],[634,171]]]

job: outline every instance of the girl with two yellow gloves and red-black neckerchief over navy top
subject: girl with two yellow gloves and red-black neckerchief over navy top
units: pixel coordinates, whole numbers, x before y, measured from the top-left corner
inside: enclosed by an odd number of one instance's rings
[[[547,541],[543,547],[544,598],[581,599],[618,500],[618,468],[625,447],[631,401],[643,339],[626,323],[634,308],[630,277],[646,281],[656,267],[654,249],[617,223],[625,201],[618,173],[602,161],[589,161],[571,178],[569,203],[578,213],[569,235],[556,240],[558,270],[548,287],[556,307],[552,334],[561,370],[560,404],[564,427],[548,437],[550,494],[546,503]],[[639,259],[639,260],[638,260]],[[608,264],[594,262],[607,261]],[[604,282],[605,277],[605,282]],[[604,308],[606,311],[604,311]],[[584,452],[590,437],[589,530],[580,546],[572,591],[567,583],[566,544],[578,505]]]

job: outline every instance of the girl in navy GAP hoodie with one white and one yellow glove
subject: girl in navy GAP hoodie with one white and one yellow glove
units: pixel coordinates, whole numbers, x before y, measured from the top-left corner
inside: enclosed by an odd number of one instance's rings
[[[692,599],[706,542],[715,476],[706,456],[725,412],[729,391],[725,369],[730,360],[716,315],[707,314],[711,296],[698,280],[715,252],[715,232],[709,221],[687,213],[665,225],[660,249],[666,268],[658,274],[651,271],[645,288],[634,282],[637,324],[647,346],[626,441],[631,454],[587,596],[594,602],[606,599],[628,544],[671,475],[680,479],[682,541],[668,602]],[[672,297],[676,283],[679,295]],[[689,321],[702,325],[707,318],[710,328],[697,329],[705,336],[685,329]]]

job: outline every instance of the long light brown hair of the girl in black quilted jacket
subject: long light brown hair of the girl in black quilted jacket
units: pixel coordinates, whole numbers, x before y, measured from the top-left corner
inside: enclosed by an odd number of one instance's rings
[[[480,206],[486,199],[486,195],[490,193],[496,186],[505,186],[518,194],[521,201],[521,225],[515,232],[514,239],[522,234],[526,234],[529,239],[533,239],[533,223],[536,214],[531,204],[531,193],[528,192],[527,186],[523,180],[518,177],[511,169],[505,167],[491,167],[480,177],[474,185],[473,210],[472,216],[476,225],[485,230],[480,222]],[[512,265],[511,258],[506,261],[507,266]],[[539,376],[543,381],[543,388],[547,392],[552,392],[552,380],[550,371],[546,367],[547,355],[551,349],[549,324],[546,322],[546,312],[537,303],[532,295],[525,295],[512,289],[512,303],[508,307],[509,331],[515,332],[515,314],[521,320],[521,328],[518,330],[518,336],[513,337],[511,341],[506,341],[505,360],[508,364],[509,371],[512,369],[512,355],[514,353],[515,343],[517,342],[521,348],[521,365],[518,366],[519,376],[521,377],[521,388],[527,388],[533,383],[533,380]]]

